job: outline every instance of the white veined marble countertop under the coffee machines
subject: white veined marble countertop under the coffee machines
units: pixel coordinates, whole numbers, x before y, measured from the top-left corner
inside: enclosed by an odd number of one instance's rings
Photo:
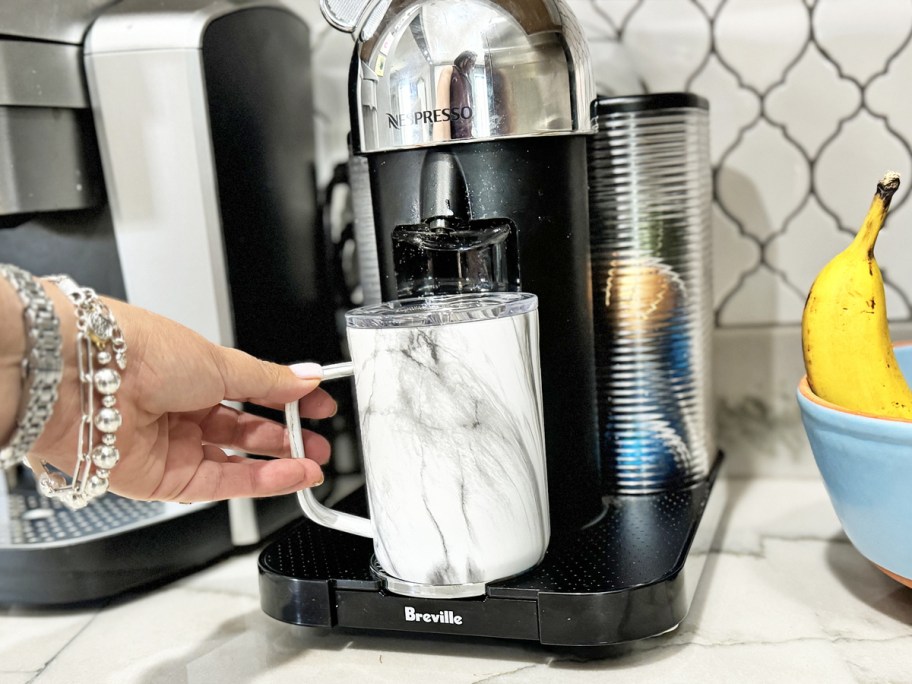
[[[685,621],[600,660],[278,622],[250,552],[103,607],[0,607],[0,684],[910,680],[912,590],[854,550],[818,479],[732,479],[717,537]]]

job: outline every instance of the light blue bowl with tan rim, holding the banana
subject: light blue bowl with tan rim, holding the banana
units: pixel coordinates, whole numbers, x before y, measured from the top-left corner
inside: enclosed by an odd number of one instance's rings
[[[912,344],[896,347],[912,379]],[[801,420],[830,501],[849,540],[869,561],[912,587],[912,421],[875,418],[798,385]]]

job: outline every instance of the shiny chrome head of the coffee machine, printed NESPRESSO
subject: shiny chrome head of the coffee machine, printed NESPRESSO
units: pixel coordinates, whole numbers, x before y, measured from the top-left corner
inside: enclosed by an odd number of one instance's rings
[[[361,17],[361,152],[591,132],[594,86],[579,26],[556,0],[393,0]]]

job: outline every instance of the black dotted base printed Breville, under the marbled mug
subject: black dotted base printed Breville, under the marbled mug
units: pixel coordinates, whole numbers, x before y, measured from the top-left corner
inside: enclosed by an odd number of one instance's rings
[[[721,454],[691,488],[606,498],[605,514],[561,538],[529,572],[484,596],[412,598],[371,574],[370,539],[309,520],[260,554],[260,603],[277,620],[313,627],[457,634],[602,646],[667,632],[690,608],[727,500]],[[360,489],[336,505],[367,512]]]

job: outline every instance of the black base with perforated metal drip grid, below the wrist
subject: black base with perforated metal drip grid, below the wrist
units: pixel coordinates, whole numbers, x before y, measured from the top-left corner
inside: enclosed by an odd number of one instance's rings
[[[38,495],[31,481],[0,489],[0,604],[107,599],[187,574],[233,548],[221,504],[108,494],[71,511]]]

